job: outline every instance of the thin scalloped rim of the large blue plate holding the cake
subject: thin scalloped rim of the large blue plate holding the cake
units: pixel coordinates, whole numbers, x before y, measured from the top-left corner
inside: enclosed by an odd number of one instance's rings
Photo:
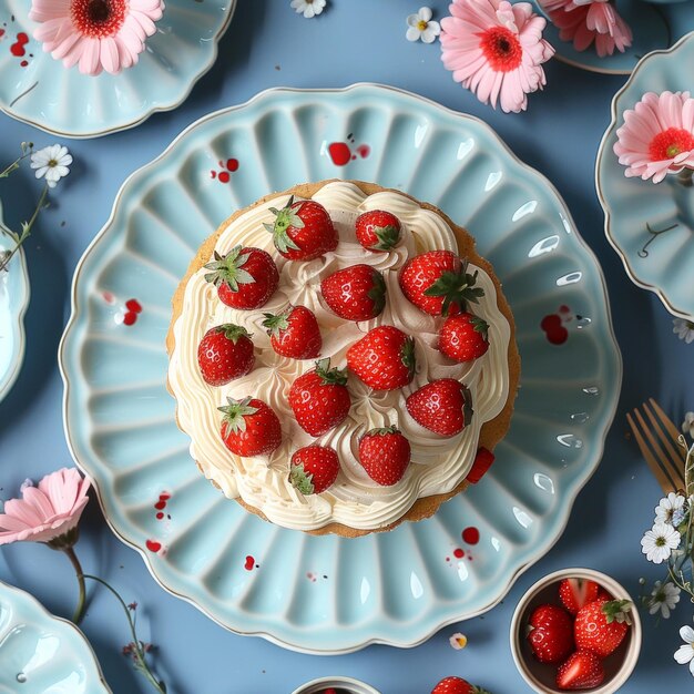
[[[584,468],[582,470],[583,474],[576,476],[575,481],[565,489],[565,494],[562,498],[562,511],[561,513],[558,513],[555,517],[551,519],[551,522],[549,523],[551,524],[551,529],[549,529],[548,532],[544,534],[544,538],[545,538],[544,541],[542,543],[538,543],[533,548],[534,551],[527,552],[522,561],[517,562],[517,565],[514,570],[510,572],[506,581],[506,584],[499,586],[498,594],[494,595],[493,599],[491,599],[489,602],[487,602],[479,609],[469,610],[469,611],[466,611],[465,613],[456,612],[455,610],[451,611],[449,609],[448,610],[449,614],[447,614],[446,618],[439,616],[435,619],[435,621],[431,624],[427,624],[423,629],[420,627],[416,636],[407,637],[405,634],[402,634],[398,639],[395,639],[395,637],[386,639],[381,636],[374,636],[370,639],[359,641],[358,643],[350,643],[339,649],[328,649],[328,647],[325,647],[325,644],[318,644],[315,646],[297,645],[296,643],[293,643],[292,640],[288,637],[278,637],[276,634],[269,633],[268,631],[265,631],[263,629],[248,629],[243,623],[235,623],[233,625],[229,625],[228,623],[223,621],[221,618],[212,613],[210,610],[207,610],[205,606],[201,605],[201,603],[196,599],[194,599],[193,596],[188,594],[177,591],[174,586],[169,584],[164,579],[162,579],[157,574],[156,569],[153,562],[151,561],[151,553],[147,553],[145,551],[142,543],[133,539],[135,533],[129,532],[127,529],[120,527],[121,524],[127,525],[127,523],[126,522],[123,523],[122,519],[114,519],[111,516],[110,503],[112,503],[112,500],[109,499],[106,494],[104,494],[104,491],[102,490],[100,481],[98,479],[93,479],[92,477],[93,470],[90,469],[91,467],[90,463],[92,463],[93,461],[90,460],[89,463],[86,463],[84,460],[80,459],[80,456],[78,455],[78,448],[75,446],[75,442],[74,442],[71,429],[70,429],[70,421],[69,421],[71,396],[72,396],[70,375],[69,375],[69,368],[70,368],[69,359],[70,359],[71,350],[75,346],[74,340],[76,339],[75,337],[73,337],[72,334],[76,329],[80,317],[81,317],[78,294],[79,294],[79,285],[81,284],[81,276],[82,276],[82,273],[84,272],[84,266],[90,261],[90,256],[92,254],[99,253],[100,244],[108,236],[110,227],[115,221],[119,206],[123,202],[122,198],[124,196],[124,193],[127,192],[131,183],[135,178],[140,176],[146,176],[151,170],[156,170],[156,166],[160,164],[160,162],[163,162],[170,154],[172,154],[172,152],[176,149],[176,146],[188,134],[191,134],[195,129],[204,125],[205,123],[207,123],[208,121],[213,119],[233,114],[235,111],[239,111],[246,108],[252,108],[258,102],[263,102],[265,100],[267,100],[268,102],[272,102],[272,99],[274,98],[274,95],[283,95],[283,94],[299,94],[299,95],[306,95],[306,96],[312,96],[314,94],[330,95],[330,94],[347,93],[350,91],[359,91],[359,90],[371,91],[370,93],[371,99],[378,99],[379,96],[382,96],[384,94],[386,95],[395,94],[396,98],[409,100],[410,101],[409,105],[412,105],[412,106],[415,104],[417,106],[421,105],[422,108],[430,109],[437,114],[441,114],[442,116],[446,116],[449,119],[451,116],[455,119],[460,119],[462,121],[471,123],[474,127],[483,129],[486,134],[490,136],[490,139],[499,146],[502,154],[508,157],[510,165],[521,171],[524,175],[531,177],[533,181],[538,183],[538,185],[543,186],[548,190],[548,192],[550,193],[550,196],[553,200],[554,205],[557,206],[558,214],[561,215],[563,220],[565,220],[565,224],[568,225],[568,231],[570,228],[571,236],[574,237],[582,253],[584,253],[584,259],[586,261],[588,264],[590,264],[591,269],[595,273],[594,277],[599,280],[600,287],[602,288],[602,295],[600,298],[603,299],[604,305],[601,304],[601,308],[604,309],[604,314],[606,318],[606,325],[603,326],[603,329],[605,331],[605,337],[608,338],[610,343],[606,346],[605,348],[606,351],[603,356],[605,356],[608,360],[611,360],[612,368],[610,370],[610,375],[612,377],[612,381],[610,382],[610,386],[612,387],[609,389],[609,392],[605,394],[606,401],[602,409],[601,427],[600,427],[599,436],[596,437],[598,440],[591,441],[592,455],[590,455],[590,459],[584,465]],[[614,329],[612,325],[610,302],[608,297],[608,287],[606,287],[606,283],[604,279],[604,275],[602,273],[602,268],[600,267],[600,264],[598,263],[598,258],[593,254],[592,249],[585,244],[583,238],[578,233],[575,224],[572,221],[571,214],[569,213],[569,210],[567,208],[565,203],[561,198],[561,195],[559,194],[554,185],[548,178],[545,178],[541,173],[539,173],[538,171],[533,170],[531,166],[521,162],[521,160],[519,160],[513,154],[513,152],[499,137],[499,135],[497,135],[497,133],[480,119],[477,119],[468,114],[459,113],[457,111],[442,106],[441,104],[438,104],[435,101],[431,101],[418,94],[414,94],[411,92],[407,92],[405,90],[400,90],[398,88],[368,83],[368,82],[367,83],[360,82],[360,83],[351,84],[346,88],[338,88],[338,89],[273,88],[273,89],[265,90],[263,92],[259,92],[258,94],[256,94],[255,96],[253,96],[251,100],[248,100],[247,102],[243,104],[222,109],[220,111],[207,114],[201,118],[198,121],[192,123],[181,134],[178,134],[174,139],[174,141],[164,150],[164,152],[162,152],[162,154],[160,154],[155,160],[153,160],[152,162],[150,162],[149,164],[146,164],[139,171],[131,174],[129,178],[123,183],[123,186],[121,187],[121,190],[119,191],[114,201],[111,215],[109,220],[106,221],[104,227],[99,232],[99,234],[94,237],[92,243],[85,249],[82,258],[80,259],[76,266],[76,269],[73,276],[72,292],[71,292],[71,316],[65,327],[65,330],[63,333],[63,337],[61,339],[61,344],[59,348],[59,366],[60,366],[61,377],[63,379],[63,386],[64,386],[63,427],[64,427],[65,439],[67,439],[70,452],[75,463],[78,465],[78,467],[80,467],[85,474],[92,477],[92,482],[94,484],[94,488],[96,489],[99,502],[104,512],[104,518],[106,519],[106,522],[109,523],[113,532],[116,534],[116,537],[119,537],[125,544],[135,549],[142,555],[145,562],[145,565],[150,570],[150,573],[152,574],[154,580],[157,581],[157,583],[160,583],[160,585],[164,590],[195,605],[210,619],[212,619],[220,625],[224,626],[225,629],[228,629],[235,633],[243,634],[243,635],[262,636],[266,639],[267,641],[271,641],[272,643],[275,643],[283,647],[287,647],[287,649],[303,652],[303,653],[317,654],[317,655],[336,655],[336,654],[351,653],[371,644],[386,644],[386,645],[392,645],[392,646],[398,646],[398,647],[414,647],[423,643],[428,639],[430,639],[441,627],[448,624],[452,624],[455,622],[461,621],[463,619],[470,619],[479,614],[482,614],[489,611],[490,609],[492,609],[494,605],[497,605],[501,600],[503,600],[504,595],[511,589],[516,580],[533,563],[535,563],[539,559],[541,559],[559,540],[559,538],[561,537],[568,523],[571,508],[573,506],[573,501],[575,500],[575,497],[578,496],[579,491],[583,488],[583,486],[588,482],[588,480],[591,478],[591,476],[595,471],[602,458],[605,438],[608,436],[608,431],[611,427],[611,423],[614,419],[614,415],[616,411],[619,394],[620,394],[621,384],[622,384],[622,370],[623,370],[622,357],[619,350],[619,346],[616,343],[616,338],[615,338]]]

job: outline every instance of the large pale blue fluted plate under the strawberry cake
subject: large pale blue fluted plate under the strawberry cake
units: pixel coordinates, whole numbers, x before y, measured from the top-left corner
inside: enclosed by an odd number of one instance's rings
[[[165,385],[171,297],[198,244],[268,191],[331,177],[401,188],[467,226],[523,360],[482,482],[428,521],[351,540],[225,499],[193,465]],[[551,184],[484,123],[368,84],[264,92],[131,176],[75,272],[60,361],[74,459],[162,585],[236,632],[317,653],[411,646],[501,600],[561,533],[621,382],[600,267]]]

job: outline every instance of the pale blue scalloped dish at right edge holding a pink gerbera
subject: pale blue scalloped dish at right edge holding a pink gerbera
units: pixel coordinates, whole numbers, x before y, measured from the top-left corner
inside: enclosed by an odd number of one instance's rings
[[[605,212],[605,234],[635,284],[657,294],[674,316],[694,320],[694,188],[675,176],[653,184],[626,178],[613,152],[623,113],[646,92],[684,91],[694,86],[694,33],[669,51],[646,55],[612,100],[612,122],[595,164],[595,186]],[[664,233],[663,233],[664,232]]]

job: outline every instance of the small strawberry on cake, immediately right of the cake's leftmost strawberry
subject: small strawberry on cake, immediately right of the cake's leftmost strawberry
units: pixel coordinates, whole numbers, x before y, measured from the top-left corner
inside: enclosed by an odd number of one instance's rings
[[[305,306],[289,306],[280,314],[264,314],[269,344],[283,357],[315,359],[320,354],[323,338],[314,312]]]

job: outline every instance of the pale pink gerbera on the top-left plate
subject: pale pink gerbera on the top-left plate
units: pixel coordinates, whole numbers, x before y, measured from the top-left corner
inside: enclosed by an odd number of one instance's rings
[[[134,65],[162,18],[163,0],[32,0],[33,38],[65,68],[111,74]]]

